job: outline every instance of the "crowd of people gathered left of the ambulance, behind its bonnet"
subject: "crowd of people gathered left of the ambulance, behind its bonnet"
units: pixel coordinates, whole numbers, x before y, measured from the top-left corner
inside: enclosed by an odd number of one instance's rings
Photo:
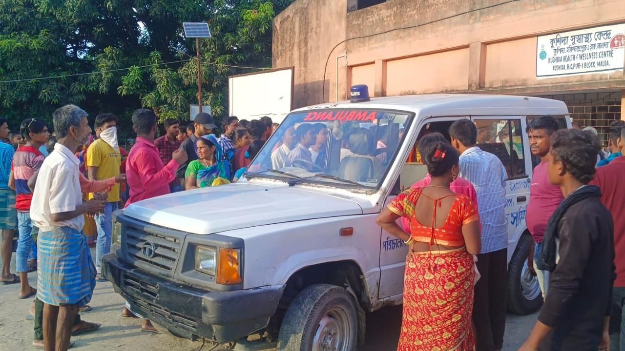
[[[29,314],[36,347],[66,350],[73,345],[71,335],[101,327],[81,320],[79,312],[91,310],[96,282],[106,280],[101,259],[111,250],[115,210],[238,179],[276,129],[269,117],[249,124],[227,117],[216,137],[212,116],[200,113],[183,127],[167,119],[157,138],[153,111],[134,111],[132,122],[136,142],[127,152],[118,144],[114,114],[96,116],[92,131],[85,111],[64,106],[53,114],[53,134],[42,119],[25,119],[19,132],[11,132],[0,118],[0,140],[8,139],[0,142],[1,281],[21,285],[18,299],[35,296]],[[233,166],[236,155],[242,157]],[[89,220],[97,231],[95,258],[83,231]],[[12,274],[16,229],[17,274]],[[27,276],[34,270],[36,287]],[[143,318],[129,304],[121,316]],[[141,330],[159,333],[147,319]]]

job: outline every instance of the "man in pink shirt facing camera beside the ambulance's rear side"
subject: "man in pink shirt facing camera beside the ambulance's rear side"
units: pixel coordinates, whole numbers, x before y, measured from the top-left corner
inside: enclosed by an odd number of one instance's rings
[[[543,298],[547,294],[549,272],[539,270],[535,261],[541,256],[542,235],[547,229],[549,218],[564,200],[562,190],[559,186],[549,183],[549,174],[547,174],[547,156],[551,149],[551,134],[557,129],[559,126],[553,117],[542,116],[532,119],[526,130],[532,155],[541,158],[541,163],[534,167],[534,175],[532,175],[532,182],[529,185],[526,223],[527,230],[529,230],[529,234],[532,234],[536,244],[532,248],[533,250],[529,250],[527,266],[529,271],[537,276]]]

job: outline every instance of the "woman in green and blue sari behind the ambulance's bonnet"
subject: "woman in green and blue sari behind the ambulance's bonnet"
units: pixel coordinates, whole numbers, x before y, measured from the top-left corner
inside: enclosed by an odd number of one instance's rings
[[[189,162],[184,173],[185,189],[211,187],[227,184],[230,180],[230,164],[224,159],[221,146],[214,134],[196,141],[197,160]]]

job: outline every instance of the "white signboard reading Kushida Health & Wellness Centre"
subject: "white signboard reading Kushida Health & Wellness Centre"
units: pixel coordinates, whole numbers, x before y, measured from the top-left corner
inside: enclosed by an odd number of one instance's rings
[[[622,71],[625,24],[539,36],[536,77]]]

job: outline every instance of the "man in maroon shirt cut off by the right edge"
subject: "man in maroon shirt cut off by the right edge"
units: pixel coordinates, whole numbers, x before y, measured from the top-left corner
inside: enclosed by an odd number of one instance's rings
[[[625,128],[619,147],[625,147]],[[591,184],[601,189],[601,202],[614,220],[614,264],[616,280],[612,289],[610,316],[610,350],[625,350],[625,156],[616,157],[607,166],[598,167]]]

